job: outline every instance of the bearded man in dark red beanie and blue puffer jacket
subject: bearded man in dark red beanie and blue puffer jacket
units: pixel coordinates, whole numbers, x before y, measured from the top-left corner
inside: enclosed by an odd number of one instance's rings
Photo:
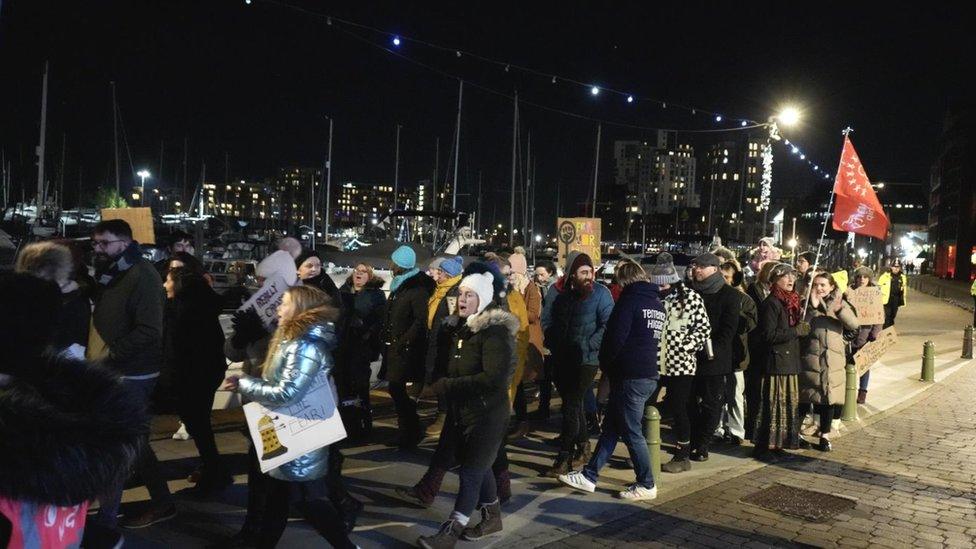
[[[600,343],[613,297],[594,282],[593,261],[577,251],[566,256],[566,275],[546,294],[542,329],[552,352],[556,388],[563,399],[559,454],[545,476],[558,478],[590,460],[583,396],[599,367]]]

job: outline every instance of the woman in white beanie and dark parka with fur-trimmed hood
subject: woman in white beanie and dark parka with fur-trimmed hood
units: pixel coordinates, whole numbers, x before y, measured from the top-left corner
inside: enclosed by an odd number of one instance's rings
[[[458,321],[449,334],[453,355],[447,376],[431,386],[447,400],[441,438],[456,438],[461,488],[450,518],[434,535],[421,536],[417,540],[420,547],[454,547],[458,539],[475,541],[502,529],[491,465],[508,426],[508,383],[515,366],[519,321],[494,303],[492,282],[489,273],[470,274],[461,280]],[[481,510],[481,522],[468,526],[476,507]]]

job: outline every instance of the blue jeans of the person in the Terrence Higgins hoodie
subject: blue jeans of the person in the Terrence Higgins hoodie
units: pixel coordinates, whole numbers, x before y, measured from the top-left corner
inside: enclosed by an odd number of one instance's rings
[[[603,418],[603,434],[596,443],[596,451],[590,462],[583,468],[583,476],[596,482],[600,469],[607,464],[622,440],[634,462],[637,484],[644,488],[654,487],[651,474],[651,456],[647,451],[647,440],[641,431],[641,419],[647,399],[657,387],[656,379],[610,380],[610,399],[607,401],[607,415]]]

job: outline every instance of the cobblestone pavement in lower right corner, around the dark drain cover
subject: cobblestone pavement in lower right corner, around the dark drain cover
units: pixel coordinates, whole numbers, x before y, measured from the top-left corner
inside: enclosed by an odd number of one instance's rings
[[[831,453],[808,450],[546,547],[976,547],[974,393],[970,367]],[[857,504],[812,523],[740,502],[775,483]]]

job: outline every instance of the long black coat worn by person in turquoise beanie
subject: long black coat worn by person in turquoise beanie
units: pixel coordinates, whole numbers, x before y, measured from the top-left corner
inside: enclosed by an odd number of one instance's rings
[[[418,272],[403,281],[386,302],[383,368],[380,377],[394,383],[422,381],[427,354],[427,301],[434,280]]]

